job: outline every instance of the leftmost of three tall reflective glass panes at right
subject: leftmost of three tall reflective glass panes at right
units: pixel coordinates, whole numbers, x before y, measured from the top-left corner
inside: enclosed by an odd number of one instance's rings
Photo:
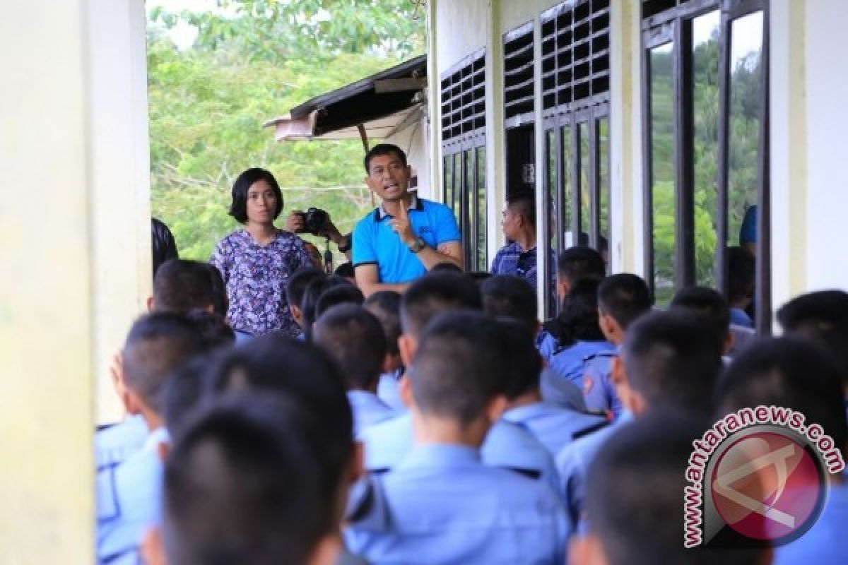
[[[674,294],[674,114],[673,43],[650,50],[651,248],[654,301],[665,306]]]

